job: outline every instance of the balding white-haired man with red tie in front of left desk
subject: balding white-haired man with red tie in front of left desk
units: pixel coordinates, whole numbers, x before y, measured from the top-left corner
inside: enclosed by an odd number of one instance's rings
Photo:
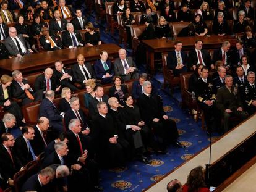
[[[45,93],[46,90],[53,90],[58,92],[61,85],[58,85],[59,81],[53,76],[53,69],[46,68],[45,72],[36,77],[35,90],[41,90]]]

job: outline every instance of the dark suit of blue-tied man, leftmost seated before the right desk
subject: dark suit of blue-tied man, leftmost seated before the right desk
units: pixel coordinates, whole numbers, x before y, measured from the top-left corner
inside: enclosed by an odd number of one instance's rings
[[[177,66],[177,56],[176,51],[171,51],[167,56],[167,67],[173,70],[174,76],[179,77],[179,74],[182,72],[187,72],[187,54],[184,51],[180,51],[180,57],[184,66],[181,69],[175,69]]]

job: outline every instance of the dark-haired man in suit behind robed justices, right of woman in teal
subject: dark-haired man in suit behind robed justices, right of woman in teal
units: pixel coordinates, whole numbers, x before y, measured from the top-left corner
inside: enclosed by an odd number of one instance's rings
[[[98,102],[108,103],[108,96],[104,94],[103,86],[95,86],[94,91],[95,98],[89,102],[89,114],[92,119],[98,115]]]

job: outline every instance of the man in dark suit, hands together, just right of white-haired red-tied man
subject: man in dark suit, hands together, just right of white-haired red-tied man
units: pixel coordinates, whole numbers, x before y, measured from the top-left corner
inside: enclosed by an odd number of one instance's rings
[[[65,68],[60,60],[55,61],[54,65],[55,69],[53,75],[59,80],[58,85],[61,85],[61,88],[68,87],[71,91],[78,90],[78,88],[73,85],[74,78],[72,77],[71,70]]]

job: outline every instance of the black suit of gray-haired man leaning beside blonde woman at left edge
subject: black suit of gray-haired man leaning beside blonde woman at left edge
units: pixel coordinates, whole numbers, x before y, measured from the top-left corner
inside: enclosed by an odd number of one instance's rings
[[[23,79],[22,83],[25,85],[25,84],[28,83],[28,81]],[[33,102],[33,101],[40,101],[43,98],[43,91],[41,91],[41,90],[33,91],[31,89],[29,91],[35,99],[34,100],[29,99],[27,94],[25,93],[25,91],[22,90],[20,84],[17,83],[17,81],[15,81],[15,80],[12,80],[11,90],[12,90],[12,96],[14,98],[22,99],[22,105],[28,104],[28,103]]]

